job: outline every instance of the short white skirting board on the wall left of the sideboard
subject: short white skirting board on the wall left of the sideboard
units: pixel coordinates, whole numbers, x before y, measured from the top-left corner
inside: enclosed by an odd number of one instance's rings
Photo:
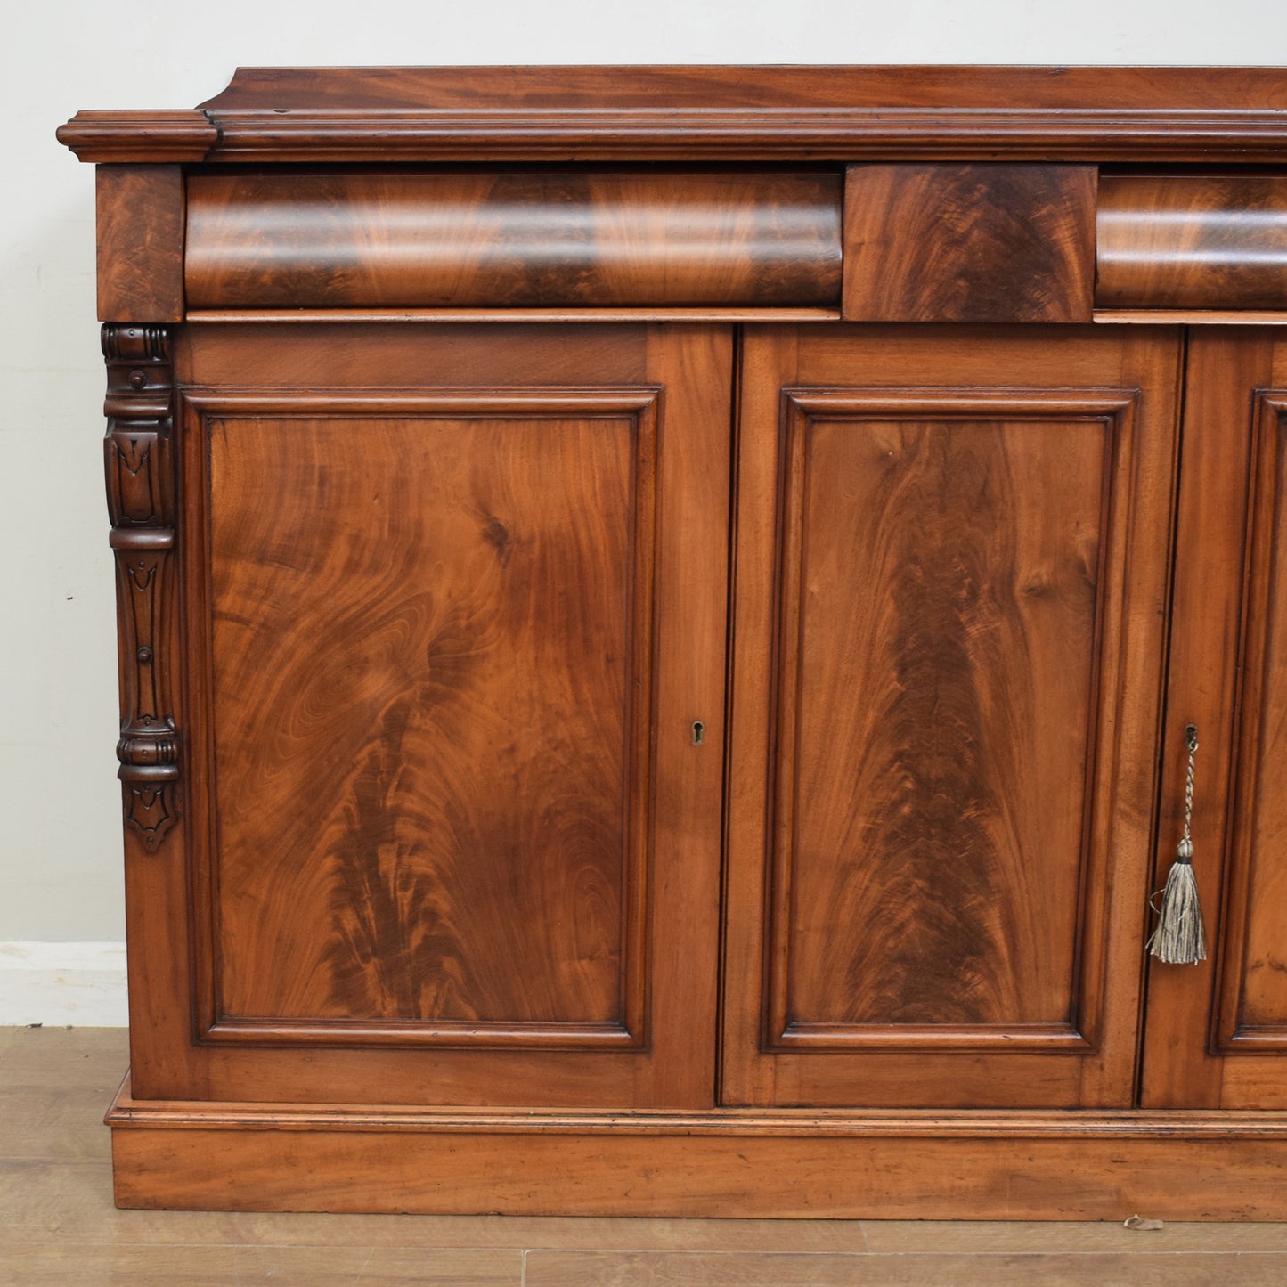
[[[126,1022],[125,943],[0,942],[0,1026]]]

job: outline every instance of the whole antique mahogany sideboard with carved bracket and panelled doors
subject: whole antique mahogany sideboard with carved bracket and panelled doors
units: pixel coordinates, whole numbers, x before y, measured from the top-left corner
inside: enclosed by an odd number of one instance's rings
[[[1287,1219],[1287,73],[264,68],[59,136],[122,1206]]]

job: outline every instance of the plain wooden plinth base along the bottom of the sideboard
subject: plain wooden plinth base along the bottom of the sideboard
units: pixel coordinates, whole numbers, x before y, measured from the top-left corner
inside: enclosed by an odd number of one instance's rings
[[[107,1121],[121,1207],[1287,1219],[1287,1113],[432,1113],[136,1100],[126,1079]]]

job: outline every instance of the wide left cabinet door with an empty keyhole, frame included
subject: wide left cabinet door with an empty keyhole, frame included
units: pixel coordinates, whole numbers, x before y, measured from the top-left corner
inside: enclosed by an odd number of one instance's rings
[[[135,1094],[709,1104],[727,328],[207,326],[176,376]]]

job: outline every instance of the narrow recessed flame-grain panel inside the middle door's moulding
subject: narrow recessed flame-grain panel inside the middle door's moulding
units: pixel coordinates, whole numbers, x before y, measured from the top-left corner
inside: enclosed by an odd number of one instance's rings
[[[1109,432],[987,417],[797,421],[788,1032],[1076,1022]]]

